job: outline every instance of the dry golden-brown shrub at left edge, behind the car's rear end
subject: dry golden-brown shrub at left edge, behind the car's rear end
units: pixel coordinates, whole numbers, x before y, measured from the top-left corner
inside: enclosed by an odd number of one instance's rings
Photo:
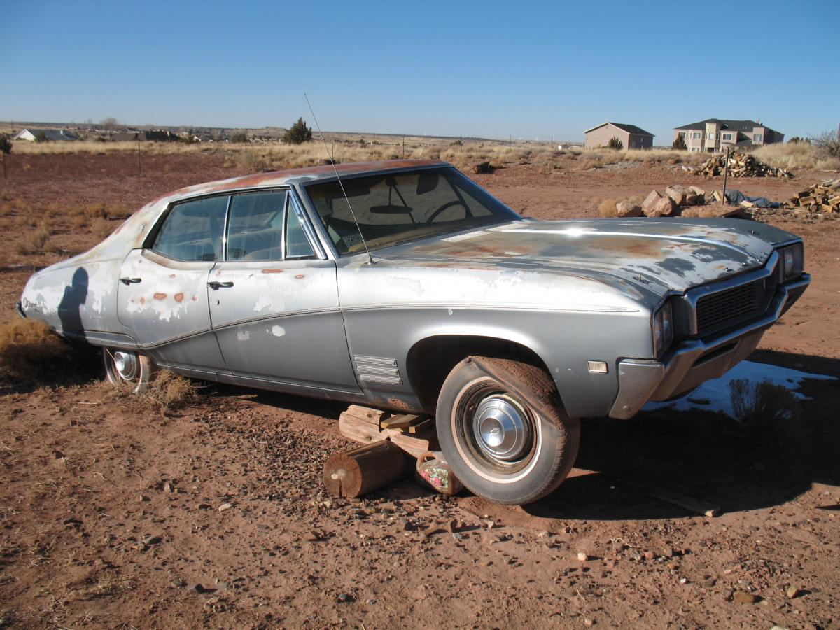
[[[0,376],[34,384],[55,381],[70,368],[70,347],[44,322],[22,319],[0,326]]]

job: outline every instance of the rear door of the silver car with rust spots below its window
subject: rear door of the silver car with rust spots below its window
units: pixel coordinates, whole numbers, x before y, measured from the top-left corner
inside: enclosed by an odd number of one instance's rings
[[[222,259],[229,201],[176,203],[119,275],[118,318],[134,339],[160,365],[204,378],[228,371],[210,323],[207,281]]]

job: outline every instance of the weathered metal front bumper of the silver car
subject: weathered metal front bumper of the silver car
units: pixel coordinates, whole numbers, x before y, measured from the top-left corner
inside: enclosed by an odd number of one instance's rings
[[[746,359],[761,336],[791,307],[811,283],[803,274],[779,287],[769,314],[743,328],[704,342],[679,344],[664,361],[625,359],[618,363],[618,396],[610,417],[626,420],[648,401],[666,401],[693,390],[704,381],[718,378]]]

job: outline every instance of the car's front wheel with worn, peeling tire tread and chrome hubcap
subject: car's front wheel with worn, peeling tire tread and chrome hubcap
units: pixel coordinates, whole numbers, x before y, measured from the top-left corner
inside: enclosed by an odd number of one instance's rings
[[[470,357],[438,397],[438,440],[464,485],[491,501],[524,505],[569,474],[580,422],[566,415],[554,381],[520,361]]]

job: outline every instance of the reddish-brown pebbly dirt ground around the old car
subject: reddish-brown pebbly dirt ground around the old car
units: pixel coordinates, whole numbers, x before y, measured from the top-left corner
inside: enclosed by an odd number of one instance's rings
[[[213,154],[149,156],[136,173],[134,155],[13,160],[0,323],[32,270],[95,244],[113,218],[240,174]],[[837,176],[796,175],[731,186],[784,199]],[[475,179],[537,218],[595,217],[601,198],[670,183],[720,187],[639,164]],[[805,238],[813,282],[751,359],[840,377],[840,222],[780,227]],[[207,386],[160,412],[77,361],[39,387],[0,386],[0,627],[840,627],[840,381],[806,381],[796,430],[705,412],[587,420],[570,478],[519,508],[412,480],[334,499],[320,474],[349,446],[343,405]]]

